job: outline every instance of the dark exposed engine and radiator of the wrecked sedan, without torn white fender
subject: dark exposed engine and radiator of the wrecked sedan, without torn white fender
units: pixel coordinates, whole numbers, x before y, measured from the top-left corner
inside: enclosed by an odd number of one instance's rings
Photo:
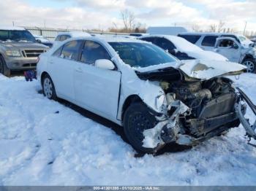
[[[238,95],[230,79],[219,77],[203,82],[161,82],[160,85],[167,93],[167,104],[178,100],[189,108],[179,118],[190,135],[198,138],[223,125],[229,128],[239,125],[234,107]],[[175,107],[170,108],[168,115],[174,110]]]

